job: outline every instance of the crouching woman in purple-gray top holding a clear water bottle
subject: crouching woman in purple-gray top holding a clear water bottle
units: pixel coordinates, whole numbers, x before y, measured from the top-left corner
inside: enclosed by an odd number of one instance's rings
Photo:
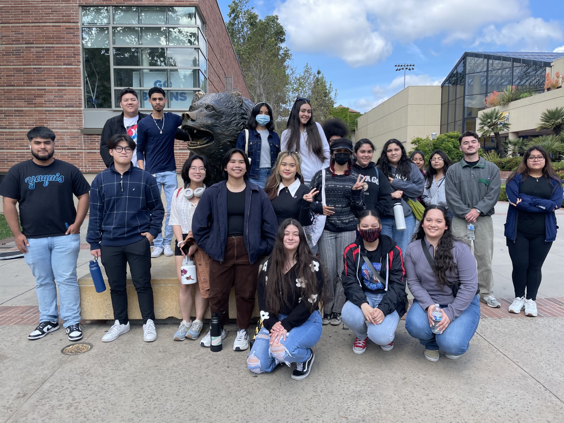
[[[453,237],[450,224],[447,209],[430,205],[406,251],[407,286],[415,297],[406,329],[425,345],[431,362],[439,359],[439,347],[450,359],[468,351],[480,319],[476,261],[469,246]],[[436,334],[431,331],[435,304],[442,312]]]

